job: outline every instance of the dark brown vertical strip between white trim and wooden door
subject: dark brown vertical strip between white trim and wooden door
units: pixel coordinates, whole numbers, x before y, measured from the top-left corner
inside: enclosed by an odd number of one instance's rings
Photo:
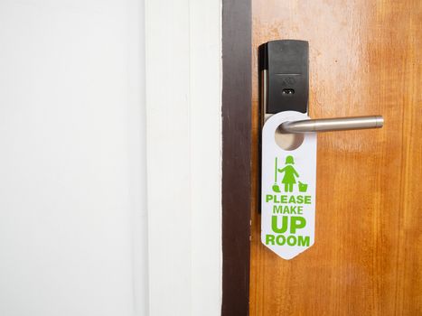
[[[222,0],[221,315],[249,315],[251,1]]]

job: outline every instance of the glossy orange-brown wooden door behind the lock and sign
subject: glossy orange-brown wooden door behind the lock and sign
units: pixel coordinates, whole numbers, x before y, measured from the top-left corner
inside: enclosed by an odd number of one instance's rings
[[[311,117],[385,126],[318,135],[315,243],[292,260],[261,245],[254,195],[250,315],[422,315],[422,1],[253,0],[252,33],[254,146],[271,40],[309,42]]]

